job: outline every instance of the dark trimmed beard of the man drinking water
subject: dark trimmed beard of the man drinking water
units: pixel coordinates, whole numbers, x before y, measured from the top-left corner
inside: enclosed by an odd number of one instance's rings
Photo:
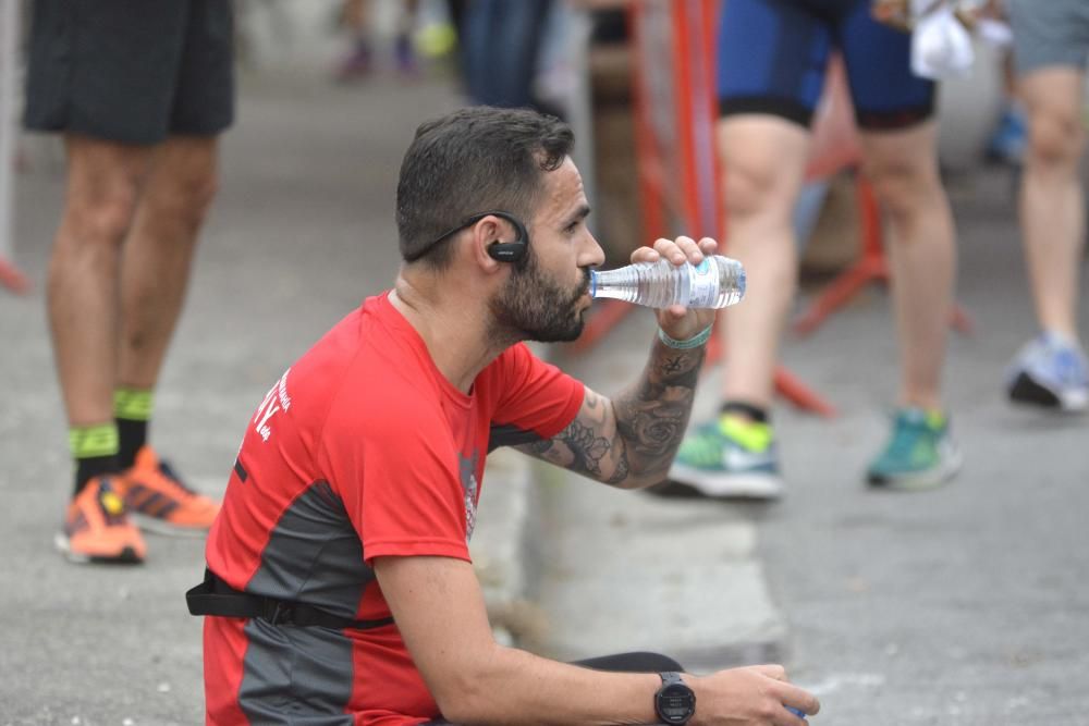
[[[586,311],[578,310],[578,302],[590,288],[590,271],[583,270],[583,282],[576,290],[565,290],[541,271],[531,248],[527,253],[525,263],[515,263],[506,286],[491,300],[495,337],[503,342],[574,341],[585,324]]]

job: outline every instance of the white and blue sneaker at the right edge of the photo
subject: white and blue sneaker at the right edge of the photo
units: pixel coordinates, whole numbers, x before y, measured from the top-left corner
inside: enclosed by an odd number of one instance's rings
[[[1089,364],[1086,354],[1059,333],[1030,341],[1006,374],[1006,392],[1016,403],[1066,413],[1089,409]]]

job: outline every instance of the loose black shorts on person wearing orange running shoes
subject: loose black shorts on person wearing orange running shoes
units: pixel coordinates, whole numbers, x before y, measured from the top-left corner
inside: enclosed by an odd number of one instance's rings
[[[35,0],[26,127],[124,144],[234,119],[230,0]]]

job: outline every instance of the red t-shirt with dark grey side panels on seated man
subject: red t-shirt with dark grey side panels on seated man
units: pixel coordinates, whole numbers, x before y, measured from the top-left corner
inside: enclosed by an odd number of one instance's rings
[[[583,391],[519,344],[466,395],[388,295],[369,298],[257,408],[208,538],[208,566],[240,590],[387,617],[374,557],[468,561],[488,451],[552,438]],[[400,726],[439,715],[395,625],[207,617],[204,649],[209,724],[343,714],[344,724]]]

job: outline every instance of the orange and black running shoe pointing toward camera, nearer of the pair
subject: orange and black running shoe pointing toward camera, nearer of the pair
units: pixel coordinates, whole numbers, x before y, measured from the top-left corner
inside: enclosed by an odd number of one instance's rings
[[[139,530],[129,520],[114,477],[95,477],[83,488],[64,514],[64,528],[57,533],[57,549],[75,563],[144,562],[147,549]]]

